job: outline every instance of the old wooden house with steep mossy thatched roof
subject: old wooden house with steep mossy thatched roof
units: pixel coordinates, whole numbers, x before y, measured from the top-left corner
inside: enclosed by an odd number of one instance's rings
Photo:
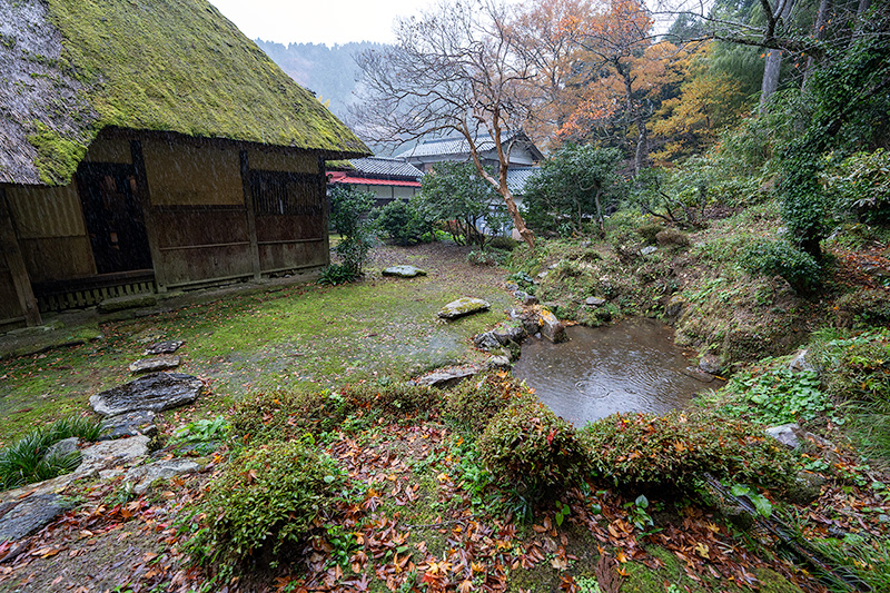
[[[369,151],[206,0],[0,0],[0,324],[328,263]]]

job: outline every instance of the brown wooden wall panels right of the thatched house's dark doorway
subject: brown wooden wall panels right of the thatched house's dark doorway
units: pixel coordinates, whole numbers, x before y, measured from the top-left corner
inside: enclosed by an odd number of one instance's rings
[[[180,137],[147,139],[142,154],[156,277],[162,286],[256,277],[329,261],[316,155],[243,150],[234,142]],[[254,205],[249,184],[256,171],[310,180],[306,199],[317,201],[318,211],[271,211]]]

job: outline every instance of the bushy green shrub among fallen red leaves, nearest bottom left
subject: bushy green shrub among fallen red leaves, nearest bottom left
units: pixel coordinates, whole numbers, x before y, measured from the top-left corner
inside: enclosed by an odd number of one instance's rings
[[[207,526],[187,547],[222,574],[251,556],[265,564],[305,541],[342,482],[333,459],[298,441],[246,449],[210,483],[199,508]]]

